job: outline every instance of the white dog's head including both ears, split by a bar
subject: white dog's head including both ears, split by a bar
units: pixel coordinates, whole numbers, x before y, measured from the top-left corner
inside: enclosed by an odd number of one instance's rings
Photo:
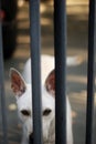
[[[33,133],[32,90],[31,84],[25,83],[22,75],[10,69],[11,89],[17,99],[19,117],[23,123],[25,135],[29,138]],[[55,114],[55,75],[54,70],[47,75],[42,85],[42,130],[43,140],[47,141]]]

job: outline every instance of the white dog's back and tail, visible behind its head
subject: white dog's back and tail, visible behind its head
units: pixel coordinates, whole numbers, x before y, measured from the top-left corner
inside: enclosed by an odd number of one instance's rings
[[[76,65],[78,64],[78,58],[77,56],[67,56],[66,59],[66,65]],[[52,55],[42,55],[41,56],[41,76],[42,76],[42,83],[44,83],[47,74],[54,69],[55,62],[54,56]],[[26,83],[31,83],[31,59],[29,59],[24,65],[23,71],[23,78]]]

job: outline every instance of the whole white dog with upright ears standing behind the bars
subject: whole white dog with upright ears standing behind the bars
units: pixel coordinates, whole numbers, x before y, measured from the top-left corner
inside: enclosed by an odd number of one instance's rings
[[[29,144],[29,137],[33,134],[32,99],[31,99],[31,60],[28,60],[23,76],[15,70],[10,69],[11,89],[15,94],[19,117],[23,124],[22,144]],[[74,64],[75,59],[67,58],[67,65]],[[42,130],[43,143],[55,141],[55,76],[54,58],[42,55]],[[67,144],[73,144],[71,105],[66,96],[66,131]]]

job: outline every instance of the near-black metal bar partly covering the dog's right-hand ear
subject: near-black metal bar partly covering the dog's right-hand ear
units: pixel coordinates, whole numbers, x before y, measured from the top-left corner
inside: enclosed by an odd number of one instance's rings
[[[55,143],[66,144],[66,1],[54,0]]]

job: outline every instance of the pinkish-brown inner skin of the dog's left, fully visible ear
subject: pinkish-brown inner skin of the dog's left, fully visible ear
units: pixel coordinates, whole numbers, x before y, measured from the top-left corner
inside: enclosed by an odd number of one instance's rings
[[[21,95],[25,91],[25,84],[21,75],[17,72],[11,74],[11,88],[15,94]]]

